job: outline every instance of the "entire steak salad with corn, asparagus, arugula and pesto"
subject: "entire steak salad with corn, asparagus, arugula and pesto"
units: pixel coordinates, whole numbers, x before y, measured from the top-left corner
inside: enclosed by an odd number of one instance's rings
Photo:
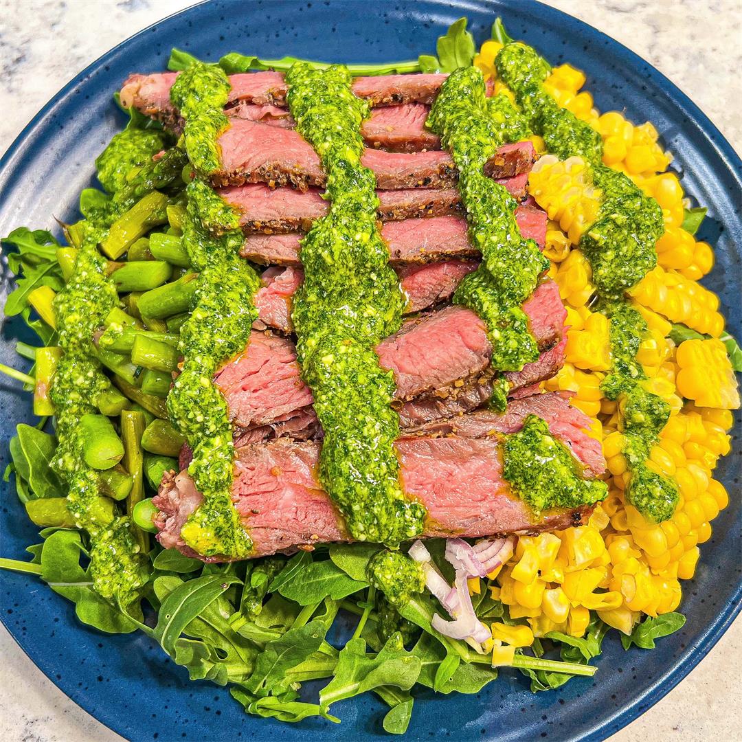
[[[651,123],[499,19],[168,69],[116,91],[65,241],[3,239],[42,530],[0,567],[251,714],[372,692],[390,733],[420,689],[554,689],[683,626],[742,351]]]

